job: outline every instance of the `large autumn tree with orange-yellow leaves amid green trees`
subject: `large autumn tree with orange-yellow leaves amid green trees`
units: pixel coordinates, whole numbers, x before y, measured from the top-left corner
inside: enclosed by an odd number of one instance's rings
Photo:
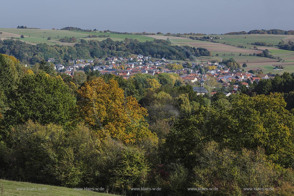
[[[144,138],[156,136],[144,122],[147,110],[132,97],[124,97],[123,89],[111,79],[101,77],[85,82],[78,90],[78,106],[85,123],[96,129],[101,139],[110,136],[125,144],[133,144]]]

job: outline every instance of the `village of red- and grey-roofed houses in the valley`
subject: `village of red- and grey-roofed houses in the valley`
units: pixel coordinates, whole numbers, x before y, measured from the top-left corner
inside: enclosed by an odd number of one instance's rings
[[[54,58],[48,58],[48,62],[56,62]],[[249,72],[244,72],[242,69],[230,70],[225,65],[220,65],[218,62],[192,62],[188,66],[187,62],[176,63],[171,60],[161,58],[161,60],[153,60],[150,56],[138,56],[126,57],[107,57],[105,59],[96,60],[84,60],[74,59],[69,61],[70,66],[64,66],[63,64],[55,64],[55,70],[58,72],[64,72],[70,76],[74,76],[75,72],[84,72],[86,68],[90,68],[93,71],[100,71],[100,73],[114,74],[121,76],[124,79],[128,79],[137,73],[149,74],[155,76],[160,73],[174,73],[181,78],[181,81],[185,84],[193,86],[193,91],[197,92],[198,95],[204,95],[208,93],[204,84],[206,81],[215,80],[222,87],[228,88],[230,84],[234,83],[233,90],[225,93],[226,96],[230,96],[236,93],[240,83],[247,88],[250,83],[254,81],[258,83],[260,79],[274,78],[275,74],[260,74],[256,75]],[[168,69],[169,64],[176,64],[181,69]],[[200,71],[200,68],[205,71]],[[199,87],[200,86],[200,87]],[[211,95],[217,93],[212,91]]]

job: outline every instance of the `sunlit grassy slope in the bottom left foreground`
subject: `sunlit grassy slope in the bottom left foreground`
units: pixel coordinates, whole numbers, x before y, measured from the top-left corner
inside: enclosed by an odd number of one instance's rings
[[[21,188],[28,189],[28,190],[20,190]],[[41,190],[38,190],[38,189],[41,189]],[[115,195],[107,194],[107,193],[98,193],[98,192],[87,191],[87,190],[74,190],[72,188],[65,188],[65,187],[33,184],[29,182],[15,182],[15,181],[9,181],[9,180],[0,180],[0,196],[115,196]]]

